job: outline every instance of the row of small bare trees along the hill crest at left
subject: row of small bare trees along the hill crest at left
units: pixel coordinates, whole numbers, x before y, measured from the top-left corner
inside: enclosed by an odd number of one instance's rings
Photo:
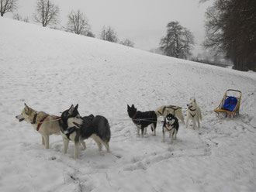
[[[0,14],[5,15],[7,12],[15,12],[17,9],[18,0],[0,0]],[[67,15],[66,26],[58,26],[60,9],[50,0],[37,0],[36,8],[33,14],[33,20],[40,23],[43,27],[50,26],[54,29],[61,29],[70,33],[75,33],[83,36],[95,37],[92,33],[91,26],[85,14],[80,10],[71,12]],[[23,22],[29,22],[29,18],[22,18],[19,13],[14,13],[13,19]],[[125,46],[134,46],[130,39],[119,40],[115,29],[111,26],[103,26],[100,38],[113,43],[120,43]]]

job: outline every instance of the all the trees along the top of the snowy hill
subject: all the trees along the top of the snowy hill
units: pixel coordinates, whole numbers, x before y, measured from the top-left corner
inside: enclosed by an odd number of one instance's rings
[[[17,9],[18,0],[0,0],[0,14]],[[209,0],[200,0],[207,2]],[[256,71],[256,3],[255,0],[214,0],[213,6],[206,11],[206,39],[203,46],[215,55],[224,55],[231,60],[236,70]],[[85,14],[72,10],[67,15],[67,25],[57,27],[60,9],[50,0],[36,0],[34,21],[42,26],[54,26],[67,32],[95,37]],[[14,19],[29,22],[18,13]],[[191,51],[195,45],[194,36],[189,29],[179,22],[169,22],[166,35],[161,37],[155,53],[182,59],[192,58]],[[103,26],[100,38],[125,46],[134,46],[130,39],[120,41],[111,26]],[[198,60],[199,62],[206,60]]]

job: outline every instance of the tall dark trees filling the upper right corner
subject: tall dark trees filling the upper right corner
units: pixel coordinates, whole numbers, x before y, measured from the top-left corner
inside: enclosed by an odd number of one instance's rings
[[[225,53],[236,70],[256,71],[255,0],[216,0],[206,12],[204,46]]]

